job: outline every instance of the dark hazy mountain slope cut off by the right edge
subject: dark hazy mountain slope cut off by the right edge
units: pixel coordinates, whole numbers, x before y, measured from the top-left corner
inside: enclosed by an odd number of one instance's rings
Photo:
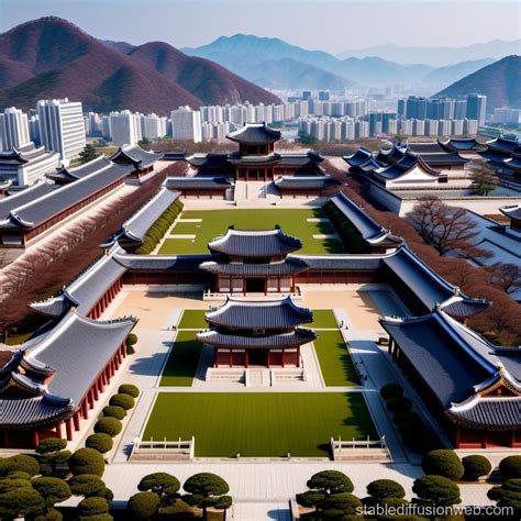
[[[521,107],[521,56],[507,56],[452,84],[437,96],[487,96],[487,111],[497,107]]]

